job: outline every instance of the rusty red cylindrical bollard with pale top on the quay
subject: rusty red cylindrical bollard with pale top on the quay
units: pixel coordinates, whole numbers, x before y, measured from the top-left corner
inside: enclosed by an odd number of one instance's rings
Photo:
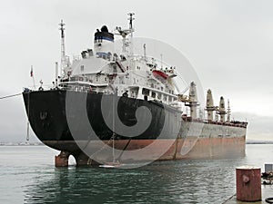
[[[242,166],[236,169],[236,193],[240,201],[261,200],[260,168]]]

